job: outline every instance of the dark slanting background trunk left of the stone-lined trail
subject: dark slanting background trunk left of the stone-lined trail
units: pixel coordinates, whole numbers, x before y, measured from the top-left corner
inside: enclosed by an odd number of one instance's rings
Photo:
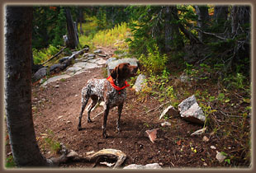
[[[67,28],[68,28],[68,47],[70,49],[75,49],[78,46],[78,38],[75,32],[75,28],[73,26],[73,19],[71,16],[71,12],[69,8],[65,8],[66,11],[66,20],[67,20]]]

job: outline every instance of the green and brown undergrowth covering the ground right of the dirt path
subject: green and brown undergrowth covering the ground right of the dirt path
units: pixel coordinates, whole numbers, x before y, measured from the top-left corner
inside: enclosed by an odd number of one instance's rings
[[[156,56],[155,56],[156,55]],[[150,57],[151,56],[151,57]],[[250,164],[250,84],[241,73],[226,74],[224,64],[185,63],[181,72],[175,69],[161,68],[158,63],[160,55],[142,55],[140,62],[147,75],[145,87],[140,91],[139,101],[147,101],[150,96],[159,101],[170,101],[174,108],[188,96],[195,95],[197,103],[206,116],[204,127],[206,133],[219,138],[225,153],[225,166],[244,166]],[[154,57],[154,58],[152,58]],[[151,59],[150,59],[151,58]],[[155,65],[158,64],[158,65]],[[155,67],[157,66],[157,67]],[[148,70],[151,68],[150,70]],[[160,70],[161,69],[161,70]],[[181,76],[186,76],[181,81]],[[231,147],[230,147],[231,146]],[[235,152],[230,148],[235,146]]]

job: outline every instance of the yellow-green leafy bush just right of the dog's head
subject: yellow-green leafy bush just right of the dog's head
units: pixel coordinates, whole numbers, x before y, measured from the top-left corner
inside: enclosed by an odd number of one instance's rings
[[[145,56],[145,54],[140,55],[140,62],[150,74],[163,72],[164,68],[166,68],[166,63],[168,62],[167,55],[161,55],[159,53],[159,47],[156,44],[154,44],[153,49],[148,47],[148,52],[147,56]]]

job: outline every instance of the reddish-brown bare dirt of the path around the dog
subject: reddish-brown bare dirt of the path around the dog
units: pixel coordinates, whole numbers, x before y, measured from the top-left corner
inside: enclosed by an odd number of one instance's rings
[[[55,152],[44,147],[47,135],[55,141],[64,143],[80,155],[86,152],[97,152],[103,148],[114,148],[126,153],[127,158],[122,166],[130,164],[145,165],[159,163],[168,167],[211,167],[220,166],[216,161],[216,150],[220,142],[217,138],[206,135],[210,142],[203,142],[203,135],[191,137],[190,134],[202,127],[191,124],[180,118],[168,119],[171,126],[161,127],[165,120],[159,120],[164,108],[146,113],[163,104],[147,97],[141,100],[130,87],[126,89],[127,98],[121,115],[121,133],[116,132],[117,109],[112,109],[107,119],[107,134],[102,138],[102,115],[92,119],[88,124],[87,112],[84,111],[82,131],[78,131],[78,115],[81,106],[81,90],[90,78],[102,78],[104,67],[93,68],[73,77],[52,82],[47,87],[33,86],[32,108],[36,136],[40,149],[46,157],[55,156]],[[93,118],[102,112],[98,106],[91,113]],[[154,143],[145,135],[148,129],[159,129]],[[211,149],[215,146],[215,149]],[[192,150],[192,148],[196,149]],[[94,163],[70,162],[63,167],[92,168]],[[97,166],[96,166],[97,167]]]

